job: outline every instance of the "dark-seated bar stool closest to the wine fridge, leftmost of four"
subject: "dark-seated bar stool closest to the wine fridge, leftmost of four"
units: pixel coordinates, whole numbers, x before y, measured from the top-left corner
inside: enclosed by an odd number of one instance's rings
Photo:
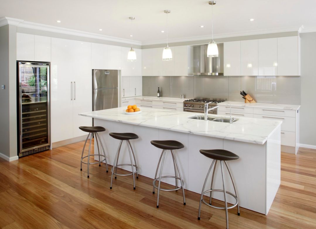
[[[105,131],[105,128],[102,127],[102,126],[79,126],[79,129],[84,131],[84,132],[88,132],[89,133],[88,136],[87,136],[86,141],[84,142],[84,146],[83,146],[83,149],[82,149],[80,170],[82,171],[82,163],[88,164],[88,178],[89,178],[89,165],[91,165],[91,164],[98,164],[99,163],[99,166],[101,166],[101,162],[105,161],[105,163],[106,163],[106,172],[108,172],[107,171],[107,161],[106,161],[105,151],[104,151],[103,144],[102,144],[101,139],[100,139],[99,134],[98,134],[98,132]],[[90,148],[91,148],[91,142],[92,142],[92,135],[93,134],[94,134],[94,136],[96,136],[95,140],[97,142],[98,154],[90,154]],[[89,153],[88,153],[87,156],[83,157],[84,148],[86,147],[86,143],[88,141],[89,136],[90,136]],[[100,144],[101,144],[101,147],[102,147],[102,150],[103,150],[103,155],[100,154],[98,139],[100,140]],[[99,156],[99,161],[98,162],[90,162],[90,157],[91,156]],[[83,161],[83,159],[86,158],[86,157],[88,157],[88,162],[84,162]],[[100,160],[100,157],[104,157],[104,159]]]

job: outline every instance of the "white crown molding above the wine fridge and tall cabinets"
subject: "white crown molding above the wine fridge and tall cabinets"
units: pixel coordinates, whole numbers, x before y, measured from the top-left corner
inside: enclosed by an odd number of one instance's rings
[[[108,40],[108,41],[114,41],[114,42],[120,42],[120,43],[126,43],[126,44],[142,45],[142,42],[131,40],[131,39],[124,39],[124,38],[119,38],[119,37],[101,35],[97,33],[84,32],[84,31],[75,30],[75,29],[67,29],[67,28],[62,28],[62,27],[57,27],[57,26],[50,26],[50,25],[34,23],[30,21],[24,21],[24,20],[15,19],[15,18],[9,18],[9,17],[3,17],[0,19],[0,26],[8,25],[8,24],[15,25],[18,27],[37,29],[37,30],[53,32],[53,33],[63,33],[63,34],[68,34],[68,35],[88,37],[88,38],[94,38],[94,39],[100,39],[100,40]]]

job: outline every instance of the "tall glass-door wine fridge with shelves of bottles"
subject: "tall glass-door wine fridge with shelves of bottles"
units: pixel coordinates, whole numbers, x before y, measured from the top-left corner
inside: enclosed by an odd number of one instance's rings
[[[19,157],[50,148],[50,63],[17,61]]]

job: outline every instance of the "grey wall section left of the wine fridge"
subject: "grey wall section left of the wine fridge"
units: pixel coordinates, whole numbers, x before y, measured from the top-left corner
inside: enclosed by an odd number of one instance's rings
[[[0,27],[0,153],[17,156],[16,26]]]

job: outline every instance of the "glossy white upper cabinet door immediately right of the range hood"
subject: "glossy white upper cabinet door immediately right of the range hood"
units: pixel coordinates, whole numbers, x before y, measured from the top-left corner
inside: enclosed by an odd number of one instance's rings
[[[224,75],[241,75],[240,41],[224,42]]]

